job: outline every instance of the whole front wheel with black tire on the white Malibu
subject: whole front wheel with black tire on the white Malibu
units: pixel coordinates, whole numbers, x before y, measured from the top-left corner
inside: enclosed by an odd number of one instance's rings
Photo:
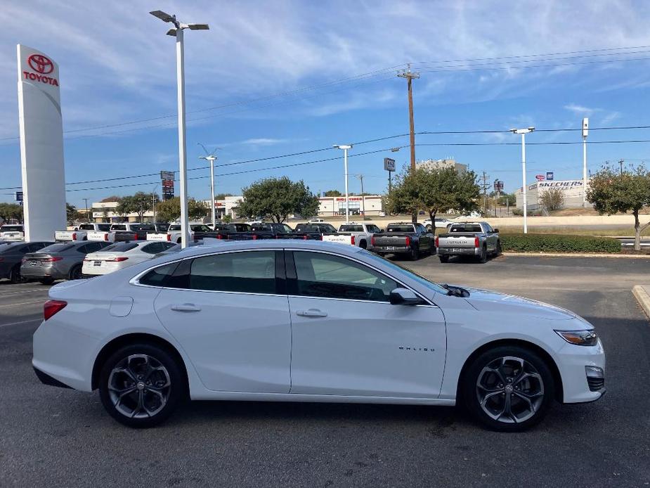
[[[504,361],[505,358],[507,360]],[[517,360],[524,362],[519,364]],[[500,375],[494,369],[497,365],[501,365]],[[519,372],[517,368],[520,368]],[[517,380],[524,372],[529,375]],[[502,378],[506,383],[499,383]],[[555,394],[553,375],[546,361],[531,349],[515,345],[483,352],[469,364],[462,382],[459,392],[469,413],[479,423],[499,432],[521,432],[539,423],[550,408]],[[481,388],[479,382],[491,387]],[[481,397],[485,399],[485,395],[489,395],[485,407],[491,416],[481,406]],[[500,413],[501,404],[504,405],[503,412],[506,411],[506,395],[510,400],[509,415]],[[530,403],[524,400],[528,396]],[[532,409],[531,404],[534,406]],[[514,421],[515,417],[519,420]]]

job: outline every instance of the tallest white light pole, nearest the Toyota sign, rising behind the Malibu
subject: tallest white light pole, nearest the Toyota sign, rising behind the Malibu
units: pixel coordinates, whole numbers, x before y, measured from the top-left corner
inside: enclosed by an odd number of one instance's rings
[[[188,246],[188,160],[186,155],[185,130],[185,51],[183,49],[183,30],[208,30],[207,24],[185,24],[160,10],[150,12],[163,22],[174,24],[167,31],[168,36],[176,37],[176,84],[178,86],[178,177],[181,180],[181,248]]]

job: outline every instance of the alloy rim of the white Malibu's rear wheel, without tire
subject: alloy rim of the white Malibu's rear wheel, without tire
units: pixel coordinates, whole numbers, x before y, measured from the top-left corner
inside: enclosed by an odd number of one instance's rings
[[[129,418],[150,418],[164,409],[171,391],[169,372],[147,354],[131,354],[119,361],[108,377],[115,409]]]

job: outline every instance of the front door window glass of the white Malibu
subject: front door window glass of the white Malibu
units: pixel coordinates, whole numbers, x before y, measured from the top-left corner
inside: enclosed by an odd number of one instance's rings
[[[297,279],[292,295],[389,302],[396,281],[345,257],[294,252]]]

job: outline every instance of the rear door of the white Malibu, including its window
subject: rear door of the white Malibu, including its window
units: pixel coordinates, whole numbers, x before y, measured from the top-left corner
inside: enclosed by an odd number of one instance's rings
[[[209,390],[289,392],[291,326],[281,250],[186,259],[157,296],[155,310]]]

